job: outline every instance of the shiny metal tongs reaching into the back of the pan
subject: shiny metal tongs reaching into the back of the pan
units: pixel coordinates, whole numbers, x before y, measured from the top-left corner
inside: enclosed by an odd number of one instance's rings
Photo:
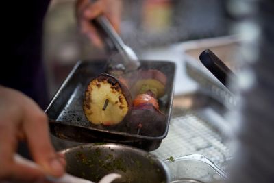
[[[116,55],[110,57],[108,67],[110,69],[119,69],[125,72],[136,71],[140,66],[140,61],[136,53],[125,45],[121,37],[115,32],[108,19],[101,15],[92,20],[92,24],[97,27],[101,38],[105,41],[110,51]]]

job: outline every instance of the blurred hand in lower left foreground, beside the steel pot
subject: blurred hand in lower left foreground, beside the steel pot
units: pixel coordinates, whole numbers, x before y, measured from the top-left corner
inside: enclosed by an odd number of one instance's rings
[[[27,142],[40,169],[14,161],[19,140]],[[0,86],[0,182],[34,182],[45,175],[64,173],[64,157],[55,153],[49,138],[45,113],[23,93]]]

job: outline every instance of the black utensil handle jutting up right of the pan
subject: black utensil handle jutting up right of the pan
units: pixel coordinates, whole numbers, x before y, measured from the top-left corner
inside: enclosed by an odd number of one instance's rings
[[[229,77],[235,77],[234,73],[210,49],[203,51],[199,59],[223,85],[227,86]]]

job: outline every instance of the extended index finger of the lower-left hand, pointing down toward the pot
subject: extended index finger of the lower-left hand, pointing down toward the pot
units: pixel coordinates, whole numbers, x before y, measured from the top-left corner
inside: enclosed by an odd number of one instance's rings
[[[23,130],[34,160],[40,164],[50,175],[59,177],[64,173],[64,167],[55,153],[49,138],[47,117],[36,106],[29,101],[25,116],[23,117]],[[29,110],[31,109],[32,110]]]

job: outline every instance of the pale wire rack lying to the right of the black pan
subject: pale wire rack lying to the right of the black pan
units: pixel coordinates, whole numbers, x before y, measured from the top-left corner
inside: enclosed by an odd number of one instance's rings
[[[169,134],[160,147],[151,153],[161,159],[177,158],[188,154],[202,154],[216,166],[227,170],[232,157],[223,136],[192,110],[173,109]]]

